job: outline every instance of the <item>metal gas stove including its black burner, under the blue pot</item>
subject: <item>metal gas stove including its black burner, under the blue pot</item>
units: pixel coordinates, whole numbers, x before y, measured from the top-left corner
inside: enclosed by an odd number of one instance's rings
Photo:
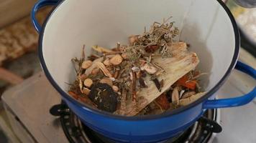
[[[247,55],[250,54],[242,51],[240,59],[255,67],[255,59]],[[217,96],[219,98],[239,96],[249,92],[254,86],[255,80],[239,71],[233,71],[227,82],[219,89]],[[43,73],[9,89],[3,94],[2,99],[14,134],[21,142],[111,142],[83,125],[65,103],[60,103],[60,95]],[[208,110],[204,117],[186,132],[166,142],[256,142],[255,109],[256,102],[234,109]],[[222,132],[219,124],[223,129]]]

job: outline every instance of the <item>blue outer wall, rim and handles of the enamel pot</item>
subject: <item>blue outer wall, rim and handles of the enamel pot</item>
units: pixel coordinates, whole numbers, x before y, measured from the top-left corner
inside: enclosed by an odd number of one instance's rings
[[[175,135],[180,134],[184,130],[188,129],[198,118],[204,114],[206,109],[214,108],[224,108],[224,107],[237,107],[247,104],[252,101],[256,96],[256,87],[249,94],[245,94],[242,97],[237,97],[233,99],[214,99],[214,93],[221,87],[225,79],[229,76],[232,69],[235,68],[249,74],[252,78],[256,79],[256,71],[250,66],[237,61],[239,54],[239,31],[237,25],[234,21],[232,14],[230,13],[227,6],[220,0],[219,4],[227,11],[230,20],[232,21],[234,27],[234,34],[236,39],[236,46],[234,51],[234,56],[232,59],[232,64],[229,66],[227,73],[221,79],[221,81],[211,89],[204,97],[198,99],[196,102],[189,104],[186,107],[180,107],[172,112],[165,112],[160,115],[152,115],[145,117],[122,117],[106,112],[101,112],[97,109],[92,109],[86,105],[77,102],[75,99],[68,96],[58,84],[52,78],[50,72],[47,70],[45,60],[42,54],[42,38],[47,24],[48,19],[55,9],[62,4],[62,1],[56,0],[41,0],[32,9],[32,23],[35,29],[40,33],[39,41],[39,56],[42,64],[42,69],[45,71],[47,79],[50,81],[53,87],[60,92],[63,100],[68,104],[68,107],[82,120],[84,124],[93,129],[105,137],[113,139],[115,142],[161,142],[165,139],[175,137]],[[35,19],[35,14],[38,9],[42,6],[55,5],[51,14],[47,17],[44,25],[41,27],[40,24]]]

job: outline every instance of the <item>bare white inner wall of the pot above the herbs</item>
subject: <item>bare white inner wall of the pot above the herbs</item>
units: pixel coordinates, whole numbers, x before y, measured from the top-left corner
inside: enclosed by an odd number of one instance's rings
[[[131,34],[142,34],[154,21],[173,16],[180,29],[180,40],[191,45],[201,60],[198,69],[206,90],[214,87],[232,62],[235,38],[232,22],[218,1],[214,0],[73,0],[64,1],[47,21],[42,51],[47,69],[55,82],[67,92],[75,78],[70,61],[86,56],[91,46],[114,47],[127,44]]]

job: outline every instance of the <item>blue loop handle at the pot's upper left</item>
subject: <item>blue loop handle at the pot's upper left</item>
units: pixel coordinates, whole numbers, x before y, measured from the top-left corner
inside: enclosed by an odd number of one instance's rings
[[[53,6],[58,3],[59,0],[39,0],[37,3],[33,6],[32,11],[31,11],[31,19],[32,19],[32,24],[39,33],[42,29],[42,26],[40,26],[39,22],[37,21],[35,14],[39,9],[41,9],[43,6]]]

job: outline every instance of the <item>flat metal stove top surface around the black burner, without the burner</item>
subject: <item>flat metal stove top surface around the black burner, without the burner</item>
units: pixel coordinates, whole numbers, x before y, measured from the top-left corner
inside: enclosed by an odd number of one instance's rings
[[[240,59],[256,67],[255,59],[241,52]],[[233,71],[217,93],[219,98],[235,97],[255,87],[255,80],[239,71]],[[42,73],[13,87],[2,96],[4,107],[14,133],[22,142],[68,143],[60,119],[49,113],[50,107],[60,103],[60,95]],[[244,107],[221,109],[223,131],[209,142],[254,143],[256,142],[256,102]]]

